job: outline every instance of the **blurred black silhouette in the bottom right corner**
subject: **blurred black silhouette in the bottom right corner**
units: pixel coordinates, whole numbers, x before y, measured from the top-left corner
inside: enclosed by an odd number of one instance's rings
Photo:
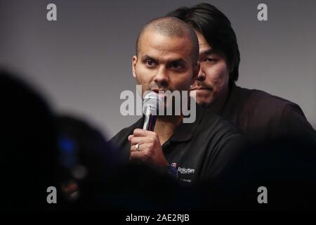
[[[258,188],[268,203],[258,203]],[[204,184],[206,210],[316,210],[315,143],[279,139],[249,146],[223,179]]]

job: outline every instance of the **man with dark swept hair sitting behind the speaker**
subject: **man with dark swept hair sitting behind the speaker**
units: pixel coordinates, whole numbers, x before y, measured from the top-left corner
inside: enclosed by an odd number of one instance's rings
[[[252,143],[312,138],[315,130],[295,103],[264,91],[236,86],[239,49],[230,20],[211,4],[180,7],[168,16],[191,25],[199,39],[199,75],[191,86],[196,101],[237,124]]]

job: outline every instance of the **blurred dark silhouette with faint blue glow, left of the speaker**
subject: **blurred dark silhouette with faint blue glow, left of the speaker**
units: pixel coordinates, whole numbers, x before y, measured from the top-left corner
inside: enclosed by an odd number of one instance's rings
[[[81,207],[79,202],[91,198],[92,193],[88,190],[103,186],[119,162],[103,134],[84,120],[72,115],[58,115],[55,122],[65,204]]]

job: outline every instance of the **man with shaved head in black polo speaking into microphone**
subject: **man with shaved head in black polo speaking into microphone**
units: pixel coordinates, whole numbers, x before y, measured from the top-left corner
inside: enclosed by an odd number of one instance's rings
[[[177,18],[152,20],[138,36],[133,77],[143,93],[189,91],[199,70],[198,54],[197,36],[189,25]],[[244,144],[235,127],[200,106],[193,123],[183,123],[181,114],[159,115],[154,131],[140,129],[142,124],[138,120],[111,140],[124,162],[142,162],[160,172],[173,167],[187,182],[219,179]]]

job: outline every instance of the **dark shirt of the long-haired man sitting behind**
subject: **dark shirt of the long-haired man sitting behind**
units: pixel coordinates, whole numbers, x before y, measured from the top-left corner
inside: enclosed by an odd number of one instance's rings
[[[301,108],[291,101],[265,91],[245,89],[235,84],[220,111],[212,111],[244,131],[250,143],[278,139],[303,139],[316,143],[316,131]]]

